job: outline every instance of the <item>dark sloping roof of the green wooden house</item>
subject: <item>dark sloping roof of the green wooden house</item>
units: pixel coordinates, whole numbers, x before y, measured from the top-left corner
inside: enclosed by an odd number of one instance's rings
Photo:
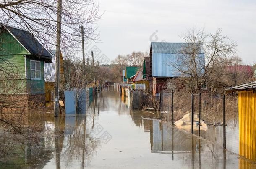
[[[52,59],[52,55],[38,42],[38,40],[26,30],[3,25],[15,38],[29,51],[31,55]]]

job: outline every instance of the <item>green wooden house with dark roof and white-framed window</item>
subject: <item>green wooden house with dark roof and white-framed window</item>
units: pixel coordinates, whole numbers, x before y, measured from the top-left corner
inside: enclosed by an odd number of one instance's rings
[[[0,25],[0,92],[44,102],[44,63],[52,55],[27,30]]]

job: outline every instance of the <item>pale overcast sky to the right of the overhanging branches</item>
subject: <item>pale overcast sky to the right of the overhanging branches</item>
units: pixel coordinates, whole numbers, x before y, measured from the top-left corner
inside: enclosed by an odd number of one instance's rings
[[[189,28],[205,28],[238,44],[246,64],[256,62],[256,0],[99,0],[99,55],[110,60],[132,51],[149,52],[150,41],[182,42]],[[86,47],[89,52],[94,44]]]

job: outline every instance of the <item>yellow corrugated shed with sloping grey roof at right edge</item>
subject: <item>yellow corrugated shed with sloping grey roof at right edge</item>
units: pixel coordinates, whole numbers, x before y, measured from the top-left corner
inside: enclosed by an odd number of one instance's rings
[[[256,81],[226,91],[238,92],[239,154],[256,161]]]

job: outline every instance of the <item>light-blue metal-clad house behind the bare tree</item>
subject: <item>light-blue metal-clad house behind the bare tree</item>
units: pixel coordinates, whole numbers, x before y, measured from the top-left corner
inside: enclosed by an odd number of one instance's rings
[[[189,43],[167,43],[152,42],[150,45],[150,77],[153,78],[152,93],[155,96],[167,84],[167,80],[177,77],[184,77],[173,65],[183,66],[182,59],[185,57],[183,50],[188,48]],[[204,67],[204,53],[198,53],[199,65]]]

